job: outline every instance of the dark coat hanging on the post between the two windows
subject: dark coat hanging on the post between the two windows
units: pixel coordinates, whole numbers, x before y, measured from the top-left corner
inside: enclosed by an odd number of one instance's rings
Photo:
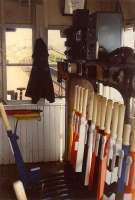
[[[53,82],[48,64],[48,50],[44,41],[35,41],[33,65],[25,96],[37,103],[40,98],[46,98],[50,103],[55,101]]]

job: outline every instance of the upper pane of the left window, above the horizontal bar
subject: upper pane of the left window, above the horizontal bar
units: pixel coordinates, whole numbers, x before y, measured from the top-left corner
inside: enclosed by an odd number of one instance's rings
[[[7,64],[32,63],[32,29],[7,29],[6,62]]]

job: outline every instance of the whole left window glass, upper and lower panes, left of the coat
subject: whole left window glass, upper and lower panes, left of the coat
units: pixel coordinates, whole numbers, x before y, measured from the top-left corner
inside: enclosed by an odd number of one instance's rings
[[[7,100],[28,100],[25,90],[32,64],[32,28],[7,28]]]

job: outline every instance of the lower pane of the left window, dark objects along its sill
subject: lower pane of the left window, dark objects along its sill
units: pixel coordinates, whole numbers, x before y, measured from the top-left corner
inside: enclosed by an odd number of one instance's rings
[[[28,100],[25,97],[29,76],[30,66],[8,66],[7,67],[7,100]],[[20,89],[19,89],[20,88]],[[22,89],[22,99],[20,90]]]

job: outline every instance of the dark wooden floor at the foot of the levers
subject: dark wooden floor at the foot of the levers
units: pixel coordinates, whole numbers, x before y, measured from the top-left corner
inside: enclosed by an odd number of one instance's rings
[[[40,166],[44,188],[35,186],[27,190],[29,200],[95,200],[83,186],[80,175],[74,174],[69,164],[39,163],[27,167]],[[0,200],[15,200],[12,188],[18,180],[15,165],[0,166]]]

